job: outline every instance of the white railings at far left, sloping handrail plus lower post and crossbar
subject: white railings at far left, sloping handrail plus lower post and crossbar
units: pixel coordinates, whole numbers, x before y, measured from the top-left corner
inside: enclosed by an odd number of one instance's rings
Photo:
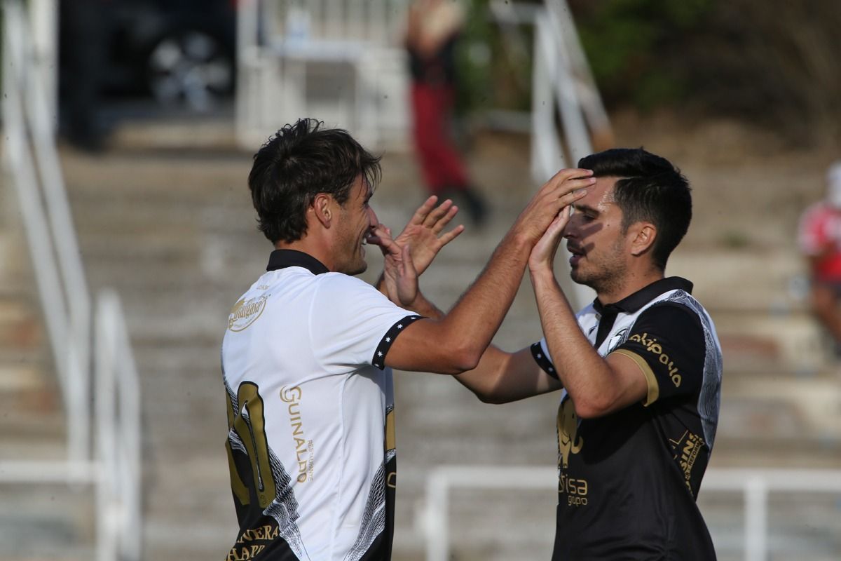
[[[0,462],[0,484],[92,484],[97,559],[140,558],[140,405],[119,299],[92,304],[56,151],[44,56],[19,0],[3,0],[3,127],[8,168],[29,243],[66,415],[65,460]],[[92,339],[97,379],[91,411]],[[92,426],[95,431],[92,430]],[[116,433],[115,433],[116,431]],[[97,451],[91,438],[95,432]]]

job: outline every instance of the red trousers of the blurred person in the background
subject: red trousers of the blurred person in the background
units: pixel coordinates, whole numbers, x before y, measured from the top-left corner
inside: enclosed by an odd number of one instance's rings
[[[415,149],[431,194],[441,193],[446,188],[463,189],[468,185],[468,174],[449,129],[452,103],[452,87],[412,84]]]

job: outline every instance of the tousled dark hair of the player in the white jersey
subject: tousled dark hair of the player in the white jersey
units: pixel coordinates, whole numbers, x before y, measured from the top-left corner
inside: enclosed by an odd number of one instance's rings
[[[315,119],[287,124],[254,155],[248,188],[258,227],[272,243],[304,237],[307,209],[318,193],[344,205],[360,175],[372,189],[379,183],[380,157],[346,130],[323,125]]]

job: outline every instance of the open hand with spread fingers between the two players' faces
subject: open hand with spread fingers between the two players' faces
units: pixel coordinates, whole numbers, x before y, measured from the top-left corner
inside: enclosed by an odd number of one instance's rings
[[[451,241],[455,240],[464,231],[464,225],[458,225],[452,230],[444,231],[444,228],[458,213],[458,207],[447,199],[436,206],[438,198],[432,195],[421,204],[415,214],[409,220],[394,242],[400,246],[410,246],[412,262],[415,263],[415,271],[421,274],[426,271],[438,251]]]

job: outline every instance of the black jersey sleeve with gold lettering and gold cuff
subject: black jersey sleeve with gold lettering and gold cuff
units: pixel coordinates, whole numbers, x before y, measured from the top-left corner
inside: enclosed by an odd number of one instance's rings
[[[654,304],[639,315],[627,340],[611,354],[631,358],[648,382],[643,405],[701,390],[705,353],[701,320],[681,304]]]

